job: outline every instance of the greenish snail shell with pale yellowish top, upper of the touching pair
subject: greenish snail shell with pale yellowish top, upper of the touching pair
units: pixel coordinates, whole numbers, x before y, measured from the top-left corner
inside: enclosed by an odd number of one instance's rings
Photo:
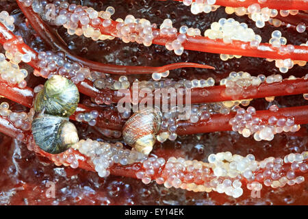
[[[36,95],[34,110],[54,116],[68,117],[77,109],[79,92],[75,83],[60,75],[53,75]]]

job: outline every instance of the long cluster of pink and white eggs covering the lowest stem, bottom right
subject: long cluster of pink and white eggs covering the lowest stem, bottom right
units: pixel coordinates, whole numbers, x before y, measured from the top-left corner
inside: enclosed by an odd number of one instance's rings
[[[144,160],[142,170],[137,172],[136,177],[146,184],[155,179],[157,184],[164,184],[166,188],[193,192],[214,190],[238,198],[243,194],[243,178],[248,181],[248,190],[254,191],[260,191],[262,183],[272,188],[303,183],[304,177],[298,176],[296,172],[307,172],[307,158],[308,153],[303,152],[291,153],[284,159],[268,157],[257,162],[251,154],[243,157],[227,151],[209,155],[209,164],[206,164],[181,157],[170,157],[167,162],[151,157]]]

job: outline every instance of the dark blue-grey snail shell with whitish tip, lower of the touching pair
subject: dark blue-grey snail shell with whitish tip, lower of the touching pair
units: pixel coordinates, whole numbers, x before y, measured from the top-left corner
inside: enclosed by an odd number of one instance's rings
[[[38,114],[32,121],[36,144],[47,153],[62,153],[79,141],[77,129],[68,118]]]

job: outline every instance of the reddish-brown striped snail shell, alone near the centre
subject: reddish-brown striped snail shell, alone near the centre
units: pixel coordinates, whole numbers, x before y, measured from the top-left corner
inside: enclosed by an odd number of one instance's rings
[[[162,123],[162,113],[157,109],[144,109],[133,114],[123,127],[123,140],[140,153],[149,155],[155,144],[155,134]]]

